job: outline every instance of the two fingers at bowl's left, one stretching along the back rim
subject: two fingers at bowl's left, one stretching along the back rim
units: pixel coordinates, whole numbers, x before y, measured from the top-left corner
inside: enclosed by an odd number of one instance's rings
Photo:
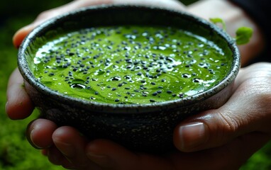
[[[163,8],[173,8],[176,10],[184,10],[184,5],[179,3],[177,0],[77,0],[72,1],[69,4],[63,6],[52,8],[48,11],[44,11],[38,15],[38,17],[29,24],[18,30],[13,36],[13,45],[19,47],[23,39],[31,32],[35,27],[39,26],[40,23],[47,21],[50,18],[61,15],[68,11],[76,10],[84,6],[94,6],[101,4],[140,4],[145,6],[160,6]],[[8,89],[7,89],[7,103],[6,103],[6,113],[11,119],[23,119],[31,115],[33,111],[33,103],[31,99],[26,94],[23,88],[23,78],[15,69],[13,74],[9,79]]]

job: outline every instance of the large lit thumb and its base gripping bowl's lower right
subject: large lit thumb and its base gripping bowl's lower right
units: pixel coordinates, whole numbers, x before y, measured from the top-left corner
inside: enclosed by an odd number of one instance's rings
[[[243,69],[233,96],[224,106],[194,115],[175,129],[175,146],[183,152],[194,152],[225,145],[250,132],[270,135],[270,84],[270,64]]]

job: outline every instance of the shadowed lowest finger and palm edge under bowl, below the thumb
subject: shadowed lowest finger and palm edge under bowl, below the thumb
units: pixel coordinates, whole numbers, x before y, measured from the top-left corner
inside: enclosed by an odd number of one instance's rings
[[[240,136],[222,147],[201,152],[172,152],[164,156],[134,153],[114,142],[94,140],[87,145],[86,153],[102,169],[238,169],[269,139],[266,135],[254,132]]]

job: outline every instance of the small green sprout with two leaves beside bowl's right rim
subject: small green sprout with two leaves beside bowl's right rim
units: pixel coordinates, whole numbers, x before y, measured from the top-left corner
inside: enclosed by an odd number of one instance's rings
[[[223,30],[226,30],[226,24],[221,18],[210,18],[210,21],[214,24],[221,24]],[[236,30],[236,44],[244,45],[250,41],[253,35],[253,29],[248,27],[240,27]]]

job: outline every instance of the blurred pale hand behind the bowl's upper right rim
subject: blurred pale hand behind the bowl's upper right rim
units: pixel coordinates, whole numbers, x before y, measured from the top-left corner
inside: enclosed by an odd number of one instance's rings
[[[215,7],[214,7],[215,6]],[[226,32],[232,37],[236,36],[236,30],[240,27],[253,28],[253,37],[250,42],[245,45],[239,45],[240,54],[242,56],[242,64],[248,64],[253,57],[265,47],[260,28],[250,19],[243,9],[228,0],[201,0],[188,6],[187,11],[205,18],[209,21],[210,18],[221,18],[226,23]]]

